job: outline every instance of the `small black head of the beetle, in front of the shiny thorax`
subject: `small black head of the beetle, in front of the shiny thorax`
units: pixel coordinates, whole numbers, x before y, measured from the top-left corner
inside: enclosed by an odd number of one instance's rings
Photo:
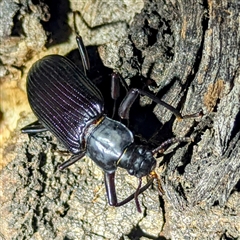
[[[146,147],[131,145],[123,153],[118,165],[125,168],[130,175],[141,178],[148,175],[155,168],[156,159]]]

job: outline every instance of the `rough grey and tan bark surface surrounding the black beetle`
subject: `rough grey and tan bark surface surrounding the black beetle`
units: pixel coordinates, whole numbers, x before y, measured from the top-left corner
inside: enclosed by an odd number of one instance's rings
[[[154,185],[139,196],[143,210],[139,214],[134,201],[120,208],[108,206],[102,172],[90,159],[82,159],[59,172],[57,166],[70,155],[63,154],[64,147],[49,132],[37,136],[20,134],[20,127],[32,118],[25,109],[26,100],[21,100],[21,107],[16,108],[20,120],[14,122],[17,130],[10,131],[11,138],[2,148],[3,158],[11,162],[0,173],[0,238],[240,238],[239,2],[145,0],[144,6],[134,1],[118,1],[112,6],[101,1],[79,6],[74,1],[61,4],[58,11],[53,11],[47,2],[0,3],[1,9],[6,9],[1,16],[5,24],[0,32],[1,87],[6,87],[1,89],[3,102],[7,102],[4,96],[9,95],[8,87],[18,89],[15,95],[25,95],[24,82],[16,76],[25,78],[37,58],[66,54],[74,48],[73,24],[65,21],[77,10],[81,16],[77,21],[83,22],[78,24],[87,29],[86,41],[90,43],[96,36],[100,39],[98,44],[107,43],[99,47],[106,66],[120,72],[131,87],[153,92],[183,115],[202,109],[203,116],[179,122],[171,112],[145,97],[132,109],[130,128],[136,141],[156,147],[173,136],[190,136],[194,140],[174,146],[164,158],[159,156],[156,171],[165,194],[158,196]],[[133,18],[130,15],[137,12],[134,5],[143,9]],[[107,13],[100,18],[103,9]],[[126,18],[122,9],[128,12]],[[60,14],[66,18],[64,23],[56,20]],[[26,21],[32,25],[24,25]],[[49,25],[43,21],[49,21]],[[65,26],[68,40],[56,26]],[[116,41],[118,27],[124,37]],[[103,36],[108,40],[103,41],[101,31],[107,29],[108,34]],[[47,40],[49,33],[52,43]],[[109,41],[110,36],[113,41]],[[6,48],[3,39],[10,41],[11,47]],[[25,52],[18,51],[22,46]],[[39,52],[44,46],[47,49],[42,55]],[[8,108],[2,104],[1,127],[8,126],[7,119],[11,118],[4,109]],[[137,186],[137,180],[121,169],[116,183],[119,199]]]

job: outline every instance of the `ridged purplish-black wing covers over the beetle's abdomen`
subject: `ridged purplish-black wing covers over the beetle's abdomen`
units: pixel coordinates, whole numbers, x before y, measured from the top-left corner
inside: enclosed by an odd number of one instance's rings
[[[100,91],[70,60],[49,55],[37,61],[27,77],[30,106],[39,121],[69,151],[81,151],[86,127],[102,115]]]

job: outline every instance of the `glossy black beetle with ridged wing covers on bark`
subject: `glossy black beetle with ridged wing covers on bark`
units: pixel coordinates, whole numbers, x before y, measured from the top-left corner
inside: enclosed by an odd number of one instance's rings
[[[104,172],[108,203],[122,206],[133,198],[140,212],[137,196],[152,183],[150,180],[141,188],[141,178],[148,176],[156,167],[154,154],[174,141],[188,141],[189,138],[171,139],[154,150],[136,145],[133,133],[121,122],[104,114],[104,100],[99,89],[87,78],[89,60],[79,35],[76,37],[80,55],[85,62],[85,73],[68,58],[48,55],[38,60],[27,75],[27,96],[38,121],[22,128],[23,133],[50,131],[72,153],[71,158],[59,166],[60,170],[70,166],[83,156],[89,156]],[[117,81],[113,74],[113,82]],[[118,85],[118,84],[115,84]],[[117,89],[112,95],[117,98]],[[131,89],[119,107],[119,115],[129,118],[129,110],[139,94],[172,111],[179,119],[196,117],[196,114],[182,116],[175,108],[161,101],[151,93]],[[118,167],[139,178],[136,192],[118,202],[115,189],[115,172]]]

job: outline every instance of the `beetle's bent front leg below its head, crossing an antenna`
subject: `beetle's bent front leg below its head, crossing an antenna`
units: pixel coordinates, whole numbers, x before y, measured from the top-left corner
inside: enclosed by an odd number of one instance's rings
[[[124,199],[121,202],[117,201],[117,194],[116,194],[115,182],[114,182],[115,181],[115,172],[113,172],[113,173],[105,172],[104,180],[105,180],[105,187],[106,187],[106,192],[107,192],[108,203],[110,206],[120,207],[120,206],[123,206],[126,203],[130,202],[131,200],[135,199],[137,210],[138,210],[138,212],[141,212],[140,204],[138,202],[137,197],[139,194],[143,193],[146,189],[148,189],[149,186],[151,186],[154,178],[151,178],[146,183],[146,185],[144,185],[142,188],[141,188],[141,179],[140,179],[136,192],[131,194],[129,197],[127,197],[126,199]]]

